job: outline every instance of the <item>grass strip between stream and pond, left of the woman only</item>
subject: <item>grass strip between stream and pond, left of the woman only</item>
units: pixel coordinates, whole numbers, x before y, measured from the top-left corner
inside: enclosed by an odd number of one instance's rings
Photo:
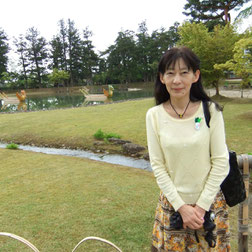
[[[0,114],[0,141],[37,146],[95,149],[94,133],[116,132],[122,139],[146,146],[145,114],[153,100],[53,111]],[[11,127],[10,127],[11,125]],[[120,152],[121,147],[104,148]]]

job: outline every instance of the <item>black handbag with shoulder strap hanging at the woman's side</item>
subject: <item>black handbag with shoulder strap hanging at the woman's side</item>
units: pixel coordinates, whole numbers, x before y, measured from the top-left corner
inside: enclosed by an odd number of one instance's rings
[[[210,128],[210,111],[206,101],[203,101],[203,110],[208,128]],[[229,151],[229,174],[221,184],[221,191],[224,194],[227,204],[232,207],[246,199],[246,189],[242,173],[238,167],[236,153]]]

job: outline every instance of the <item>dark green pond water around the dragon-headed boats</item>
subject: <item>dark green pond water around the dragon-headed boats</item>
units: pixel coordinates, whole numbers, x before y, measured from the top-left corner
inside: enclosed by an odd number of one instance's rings
[[[8,103],[8,99],[2,100],[0,103],[0,113],[73,108],[153,96],[152,83],[138,84],[131,87],[113,85],[113,87],[112,98],[105,100],[96,98],[87,99],[80,91],[82,87],[26,90],[27,96],[25,102],[19,102],[16,99],[16,102]],[[90,94],[102,95],[103,88],[107,89],[107,86],[88,86]],[[8,97],[15,99],[15,93],[6,94]]]

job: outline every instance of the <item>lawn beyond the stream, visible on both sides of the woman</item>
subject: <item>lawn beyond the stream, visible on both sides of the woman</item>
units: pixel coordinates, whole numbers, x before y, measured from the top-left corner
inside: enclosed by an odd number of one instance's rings
[[[252,150],[251,99],[220,100],[229,148],[238,154]],[[95,150],[94,133],[116,132],[122,139],[146,146],[145,114],[153,99],[127,101],[103,106],[0,114],[0,141],[37,146],[69,147]],[[121,147],[105,143],[110,152]]]

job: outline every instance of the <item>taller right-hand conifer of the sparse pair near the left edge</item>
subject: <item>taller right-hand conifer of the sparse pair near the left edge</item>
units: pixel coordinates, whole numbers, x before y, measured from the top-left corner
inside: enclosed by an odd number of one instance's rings
[[[42,87],[42,79],[46,76],[47,43],[44,37],[34,27],[29,28],[25,36],[27,40],[30,75],[34,77],[35,84]]]

